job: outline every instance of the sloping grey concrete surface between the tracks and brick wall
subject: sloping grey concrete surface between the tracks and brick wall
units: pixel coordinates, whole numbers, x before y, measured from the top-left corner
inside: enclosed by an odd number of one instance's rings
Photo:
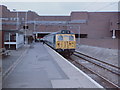
[[[90,55],[94,58],[100,59],[107,63],[118,66],[118,50],[117,49],[108,49],[101,47],[93,47],[87,45],[77,45],[76,50]]]

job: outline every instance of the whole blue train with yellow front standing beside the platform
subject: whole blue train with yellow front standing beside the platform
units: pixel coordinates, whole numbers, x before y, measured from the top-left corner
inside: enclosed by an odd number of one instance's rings
[[[70,30],[61,30],[46,35],[44,42],[62,55],[70,56],[76,48],[75,34]]]

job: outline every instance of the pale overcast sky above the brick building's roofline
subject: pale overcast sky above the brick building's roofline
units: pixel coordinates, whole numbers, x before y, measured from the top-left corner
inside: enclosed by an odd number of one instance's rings
[[[84,2],[28,2],[24,0],[4,0],[1,2],[2,5],[5,5],[11,11],[16,9],[17,11],[26,11],[31,10],[35,11],[39,15],[70,15],[72,11],[89,11],[89,12],[100,12],[100,11],[118,11],[118,0],[111,2],[101,2],[99,1],[90,1],[84,0]],[[29,0],[30,1],[30,0]],[[33,0],[32,0],[33,1]],[[75,0],[76,1],[76,0]]]

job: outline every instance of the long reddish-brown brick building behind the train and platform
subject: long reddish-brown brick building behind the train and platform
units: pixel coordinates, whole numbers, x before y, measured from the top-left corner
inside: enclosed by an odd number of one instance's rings
[[[8,10],[6,6],[0,7],[2,33],[4,30],[18,30],[27,36],[37,36],[38,33],[43,36],[46,33],[68,29],[76,34],[80,44],[118,48],[118,12],[71,12],[69,16],[40,16],[33,11],[17,12]],[[24,26],[28,26],[28,29],[24,30]]]

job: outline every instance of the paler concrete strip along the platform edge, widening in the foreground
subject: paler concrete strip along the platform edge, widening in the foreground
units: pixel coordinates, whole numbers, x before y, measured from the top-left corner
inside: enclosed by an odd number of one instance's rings
[[[48,47],[48,46],[46,46],[46,47]],[[51,56],[54,58],[54,60],[57,62],[57,64],[60,66],[62,71],[64,71],[64,73],[69,77],[68,80],[62,80],[62,81],[61,80],[57,80],[57,81],[52,80],[53,87],[66,88],[66,84],[63,84],[63,83],[69,82],[69,84],[67,84],[68,88],[72,88],[72,86],[73,86],[73,88],[75,86],[77,88],[79,88],[79,87],[82,87],[82,88],[103,88],[101,85],[99,85],[97,82],[95,82],[91,77],[86,75],[83,71],[79,70],[76,66],[74,66],[72,63],[70,63],[64,57],[59,55],[56,51],[53,51],[50,47],[48,47],[47,50],[51,54]],[[76,85],[73,84],[74,81],[76,81],[76,83],[77,83]]]

